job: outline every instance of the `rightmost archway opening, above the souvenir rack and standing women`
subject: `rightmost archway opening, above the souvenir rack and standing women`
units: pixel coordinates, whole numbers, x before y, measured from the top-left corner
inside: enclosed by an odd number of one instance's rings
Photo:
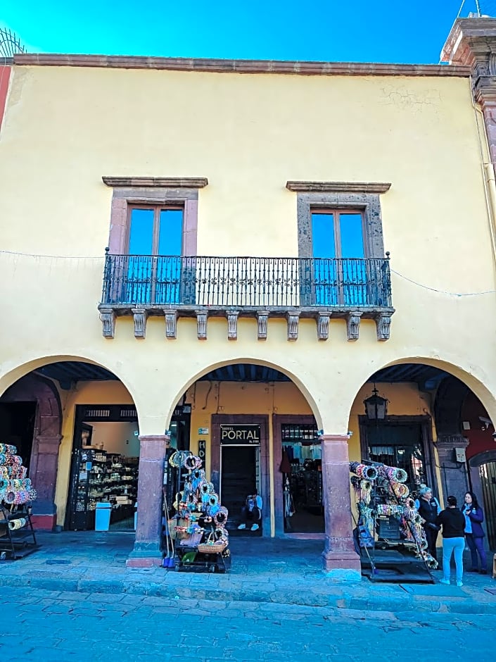
[[[496,542],[496,464],[494,426],[488,408],[471,389],[470,378],[428,363],[395,363],[363,385],[350,415],[350,456],[405,469],[413,496],[433,487],[441,503],[449,494],[463,500],[472,489],[485,506],[490,544]],[[367,416],[376,395],[386,408]],[[481,389],[483,392],[483,389]],[[356,441],[355,435],[357,436]]]

